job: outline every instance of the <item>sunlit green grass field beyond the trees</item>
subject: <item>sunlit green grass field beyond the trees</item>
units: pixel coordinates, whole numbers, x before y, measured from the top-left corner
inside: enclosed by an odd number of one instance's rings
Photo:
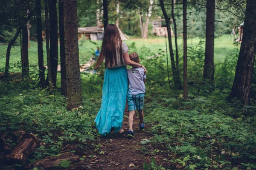
[[[233,45],[232,40],[228,40],[229,35],[223,35],[221,37],[215,38],[215,49],[214,57],[215,61],[224,59],[224,57],[232,50],[236,48]],[[188,39],[188,46],[198,45],[199,41],[204,39],[193,38],[193,40]],[[159,49],[166,51],[166,42],[164,37],[155,37],[149,39],[141,38],[130,38],[125,41],[130,48],[130,52],[137,52],[140,55],[140,52],[143,51],[143,54],[148,54],[148,57],[153,54],[158,54]],[[89,40],[79,40],[79,58],[80,63],[86,63],[87,60],[93,55],[94,50],[97,46],[101,46],[101,41],[91,42]],[[172,45],[175,49],[174,37],[172,37]],[[178,47],[179,52],[182,54],[182,37],[178,38]],[[0,45],[0,71],[5,67],[6,60],[6,49],[7,45]],[[44,43],[45,49],[45,43]],[[181,55],[180,55],[181,56]],[[147,56],[145,56],[147,57]],[[189,57],[189,56],[188,56]],[[10,66],[15,65],[15,63],[20,62],[20,46],[13,46],[10,55]],[[46,52],[44,51],[44,63],[47,65]],[[29,64],[38,65],[38,54],[37,54],[37,42],[30,42],[29,48]],[[10,69],[13,70],[13,68]]]

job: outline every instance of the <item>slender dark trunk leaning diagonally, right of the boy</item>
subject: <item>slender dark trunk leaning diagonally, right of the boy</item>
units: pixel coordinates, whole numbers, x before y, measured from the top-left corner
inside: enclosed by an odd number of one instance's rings
[[[174,54],[173,54],[173,50],[172,50],[172,35],[171,35],[170,19],[166,13],[166,9],[164,7],[163,0],[160,0],[160,6],[162,8],[164,18],[166,20],[166,27],[167,27],[168,41],[169,41],[169,50],[170,50],[171,63],[172,63],[172,73],[173,73],[175,88],[181,90],[182,87],[181,87],[180,75],[179,75],[179,71],[175,67]]]

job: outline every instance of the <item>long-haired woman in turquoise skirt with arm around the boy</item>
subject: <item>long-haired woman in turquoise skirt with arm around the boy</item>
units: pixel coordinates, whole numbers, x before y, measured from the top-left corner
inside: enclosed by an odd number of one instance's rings
[[[105,75],[102,90],[102,104],[94,122],[99,133],[106,135],[111,130],[123,133],[121,129],[128,90],[127,65],[146,68],[131,61],[128,47],[122,42],[119,30],[114,24],[108,24],[104,31],[102,50],[96,62],[95,70],[99,69],[105,59]]]

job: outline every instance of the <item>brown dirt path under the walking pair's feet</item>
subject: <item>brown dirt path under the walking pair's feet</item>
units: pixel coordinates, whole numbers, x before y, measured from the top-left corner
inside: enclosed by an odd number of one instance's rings
[[[127,108],[125,109],[127,110]],[[125,111],[125,115],[128,116],[128,111]],[[100,150],[104,154],[97,156],[96,163],[88,164],[89,169],[93,170],[141,170],[143,169],[144,162],[148,161],[143,153],[140,151],[141,139],[148,139],[147,125],[145,130],[140,131],[138,126],[139,115],[134,116],[134,139],[128,139],[127,133],[129,130],[128,118],[124,117],[123,134],[111,133],[109,136],[101,137]]]

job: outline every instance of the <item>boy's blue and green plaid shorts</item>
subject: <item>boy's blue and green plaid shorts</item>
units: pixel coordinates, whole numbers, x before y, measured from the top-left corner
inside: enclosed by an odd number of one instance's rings
[[[140,111],[143,109],[145,93],[141,94],[127,94],[128,99],[128,110],[129,111]]]

